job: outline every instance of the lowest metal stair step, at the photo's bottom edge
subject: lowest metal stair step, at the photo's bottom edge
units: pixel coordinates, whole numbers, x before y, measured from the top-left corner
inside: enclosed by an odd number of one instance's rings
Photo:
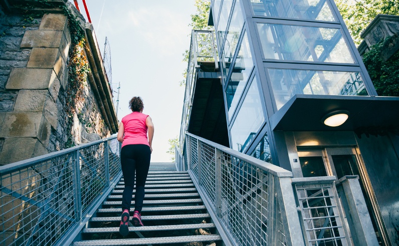
[[[210,235],[192,235],[175,237],[155,237],[155,238],[137,238],[137,239],[106,239],[106,240],[86,240],[74,242],[74,246],[114,246],[114,245],[144,245],[157,243],[183,243],[194,241],[218,241],[221,236]]]

